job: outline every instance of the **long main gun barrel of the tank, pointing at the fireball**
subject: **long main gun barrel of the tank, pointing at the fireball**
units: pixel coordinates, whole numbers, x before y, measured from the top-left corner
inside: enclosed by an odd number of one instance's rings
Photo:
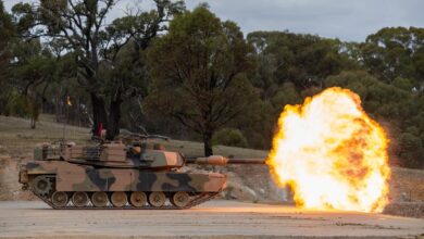
[[[228,159],[221,155],[211,155],[207,158],[186,158],[187,164],[208,164],[208,165],[227,165],[227,164],[265,164],[266,159]]]

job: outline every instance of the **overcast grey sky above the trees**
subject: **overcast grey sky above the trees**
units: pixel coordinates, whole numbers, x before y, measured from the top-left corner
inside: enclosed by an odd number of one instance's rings
[[[9,10],[18,0],[4,0]],[[125,14],[134,2],[121,0],[110,20]],[[424,0],[186,0],[188,9],[208,2],[222,20],[235,21],[245,34],[285,30],[363,41],[386,26],[424,27]]]

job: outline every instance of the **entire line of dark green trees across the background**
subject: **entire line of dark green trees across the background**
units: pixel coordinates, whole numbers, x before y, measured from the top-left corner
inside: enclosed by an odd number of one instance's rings
[[[391,138],[392,164],[424,166],[424,29],[364,42],[289,32],[242,35],[208,5],[154,0],[105,21],[113,0],[0,0],[0,114],[269,149],[284,105],[326,87],[361,96]],[[282,26],[284,27],[284,26]],[[305,136],[307,137],[307,136]]]

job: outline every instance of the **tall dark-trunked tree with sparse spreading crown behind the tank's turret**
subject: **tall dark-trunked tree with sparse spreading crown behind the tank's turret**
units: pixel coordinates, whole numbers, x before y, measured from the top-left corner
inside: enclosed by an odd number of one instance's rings
[[[102,75],[101,71],[113,68],[121,50],[129,42],[135,46],[133,63],[138,63],[138,50],[147,48],[150,40],[165,29],[163,23],[184,9],[180,1],[154,0],[155,10],[138,11],[105,26],[107,15],[116,2],[42,0],[39,5],[18,3],[13,7],[23,37],[63,39],[68,51],[75,53],[78,84],[91,100],[92,134],[98,135],[99,126],[103,125],[110,140],[119,133],[124,97],[134,95],[134,87],[125,76]]]

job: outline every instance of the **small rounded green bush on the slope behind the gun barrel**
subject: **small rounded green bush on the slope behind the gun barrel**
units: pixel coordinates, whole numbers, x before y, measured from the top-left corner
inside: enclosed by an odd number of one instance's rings
[[[233,146],[240,148],[246,148],[248,146],[242,133],[234,128],[223,128],[216,131],[212,137],[212,144]]]

